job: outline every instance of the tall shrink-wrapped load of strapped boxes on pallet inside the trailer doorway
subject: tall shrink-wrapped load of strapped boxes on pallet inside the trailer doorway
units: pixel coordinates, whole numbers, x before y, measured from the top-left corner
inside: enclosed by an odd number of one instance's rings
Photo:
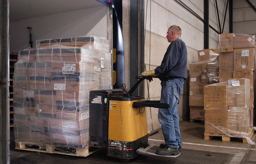
[[[108,41],[96,36],[38,40],[37,49],[20,51],[16,149],[88,156],[89,91],[111,89],[111,67]]]

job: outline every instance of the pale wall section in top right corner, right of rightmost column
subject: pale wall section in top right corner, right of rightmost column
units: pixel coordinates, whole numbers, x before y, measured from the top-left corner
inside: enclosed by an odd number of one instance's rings
[[[256,7],[256,1],[250,0]],[[246,0],[233,0],[233,32],[239,34],[256,34],[256,11]]]

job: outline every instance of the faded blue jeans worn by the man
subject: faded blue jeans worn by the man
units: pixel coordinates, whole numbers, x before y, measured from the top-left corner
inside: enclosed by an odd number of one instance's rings
[[[175,78],[166,81],[161,81],[161,99],[160,103],[168,103],[169,109],[161,109],[158,111],[158,120],[162,125],[163,137],[165,144],[170,147],[180,147],[182,142],[180,140],[179,129],[179,113],[178,100],[183,90],[184,79]]]

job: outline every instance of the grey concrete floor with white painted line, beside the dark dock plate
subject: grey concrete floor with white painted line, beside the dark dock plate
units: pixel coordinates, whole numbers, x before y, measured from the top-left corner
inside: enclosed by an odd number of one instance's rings
[[[214,137],[210,140],[204,140],[204,124],[190,123],[187,121],[180,122],[181,140],[183,149],[203,150],[211,152],[228,153],[229,155],[224,164],[256,164],[256,149],[254,145],[242,143],[242,139],[232,138],[231,142],[222,142],[221,137]],[[252,136],[255,140],[256,134]],[[11,129],[11,159],[30,155],[30,151],[15,150],[14,134]],[[149,137],[149,143],[160,145],[164,143],[161,129],[159,133]],[[256,148],[256,147],[255,147]]]

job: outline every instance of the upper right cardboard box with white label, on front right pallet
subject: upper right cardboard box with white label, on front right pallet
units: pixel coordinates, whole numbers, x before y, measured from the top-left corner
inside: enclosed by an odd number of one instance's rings
[[[238,84],[232,84],[238,82]],[[228,106],[249,106],[250,105],[250,80],[249,79],[228,79],[227,88]]]

